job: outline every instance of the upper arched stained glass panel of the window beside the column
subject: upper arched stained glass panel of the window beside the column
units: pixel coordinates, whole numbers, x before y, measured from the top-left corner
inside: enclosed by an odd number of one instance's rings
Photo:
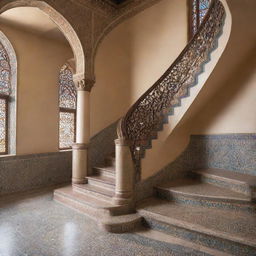
[[[64,65],[60,70],[59,106],[60,108],[76,109],[76,88],[72,70],[68,65]]]

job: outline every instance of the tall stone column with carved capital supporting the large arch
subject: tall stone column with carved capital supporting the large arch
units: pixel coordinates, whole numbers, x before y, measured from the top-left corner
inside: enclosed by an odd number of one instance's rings
[[[88,148],[90,141],[90,91],[95,83],[81,75],[74,75],[77,89],[76,143],[73,145],[72,183],[86,183]]]

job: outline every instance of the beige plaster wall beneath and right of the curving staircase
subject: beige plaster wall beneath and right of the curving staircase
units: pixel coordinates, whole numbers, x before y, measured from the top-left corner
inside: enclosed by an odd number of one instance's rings
[[[232,15],[227,48],[178,126],[164,138],[157,152],[153,143],[154,157],[150,151],[146,153],[144,179],[175,160],[191,134],[256,132],[256,2],[227,3]],[[150,161],[156,156],[158,161]]]

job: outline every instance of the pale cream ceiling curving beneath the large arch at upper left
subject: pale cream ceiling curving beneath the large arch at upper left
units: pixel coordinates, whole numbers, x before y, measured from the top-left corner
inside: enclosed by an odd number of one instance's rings
[[[17,7],[0,15],[0,23],[34,34],[68,43],[57,25],[35,7]]]

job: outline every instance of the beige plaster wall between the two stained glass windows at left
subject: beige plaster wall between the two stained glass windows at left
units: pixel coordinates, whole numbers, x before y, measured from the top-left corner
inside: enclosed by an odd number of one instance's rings
[[[58,73],[66,44],[0,24],[18,61],[17,154],[58,151]]]

